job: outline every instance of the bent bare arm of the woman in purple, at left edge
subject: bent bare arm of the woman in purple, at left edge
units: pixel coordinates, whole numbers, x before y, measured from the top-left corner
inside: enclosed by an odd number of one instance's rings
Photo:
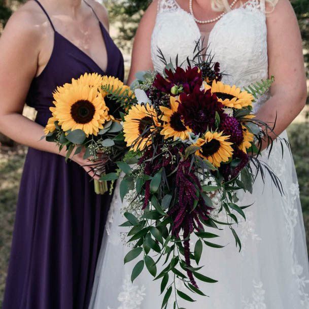
[[[29,3],[30,4],[30,3]],[[32,79],[36,76],[47,21],[25,5],[13,14],[0,38],[0,132],[26,146],[59,153],[54,143],[41,140],[43,127],[22,116]],[[74,156],[80,165],[89,164],[82,155]],[[85,167],[87,172],[89,167]],[[92,176],[93,174],[90,173]]]

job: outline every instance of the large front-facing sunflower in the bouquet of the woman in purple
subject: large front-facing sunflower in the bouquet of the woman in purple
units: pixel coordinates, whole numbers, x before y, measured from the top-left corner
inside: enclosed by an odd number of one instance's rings
[[[81,129],[87,135],[97,135],[110,119],[104,98],[88,85],[72,85],[54,95],[55,107],[50,108],[64,131]]]

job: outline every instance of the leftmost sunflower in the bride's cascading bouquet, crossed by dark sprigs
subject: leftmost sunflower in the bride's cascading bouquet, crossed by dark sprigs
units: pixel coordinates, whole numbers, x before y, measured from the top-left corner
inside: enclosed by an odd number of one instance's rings
[[[143,150],[151,144],[151,132],[160,126],[157,114],[149,104],[135,105],[124,117],[123,132],[127,146]]]

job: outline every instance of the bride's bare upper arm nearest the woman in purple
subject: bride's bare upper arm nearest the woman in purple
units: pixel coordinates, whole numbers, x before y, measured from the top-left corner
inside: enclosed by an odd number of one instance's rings
[[[135,80],[135,74],[153,69],[151,60],[151,35],[157,16],[158,0],[154,0],[145,12],[136,35],[132,50],[132,62],[127,84]]]

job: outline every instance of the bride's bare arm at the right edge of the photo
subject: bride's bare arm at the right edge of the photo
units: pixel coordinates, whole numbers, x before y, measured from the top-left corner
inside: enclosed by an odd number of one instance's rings
[[[274,131],[279,135],[303,109],[307,96],[301,36],[288,0],[279,0],[267,16],[267,29],[269,76],[273,75],[275,82],[257,119],[273,122],[277,114]]]

